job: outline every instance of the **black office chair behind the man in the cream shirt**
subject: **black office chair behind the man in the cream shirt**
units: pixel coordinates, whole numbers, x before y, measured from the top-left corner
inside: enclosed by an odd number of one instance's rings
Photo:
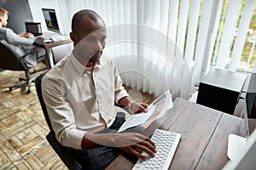
[[[48,124],[49,127],[49,134],[47,134],[46,139],[48,140],[49,144],[51,145],[51,147],[55,150],[55,152],[58,154],[58,156],[60,156],[61,161],[63,161],[65,163],[65,165],[69,168],[69,169],[81,169],[82,167],[79,165],[79,162],[76,161],[72,154],[71,154],[71,148],[67,148],[65,146],[62,146],[59,141],[57,139],[55,139],[55,132],[50,124],[49,121],[49,115],[46,109],[46,106],[44,104],[44,99],[43,99],[43,95],[42,95],[42,88],[41,88],[41,82],[42,82],[42,78],[44,77],[44,74],[40,75],[36,81],[35,81],[35,85],[36,85],[36,90],[38,93],[38,99],[39,102],[41,104],[42,110],[44,112],[44,118]]]

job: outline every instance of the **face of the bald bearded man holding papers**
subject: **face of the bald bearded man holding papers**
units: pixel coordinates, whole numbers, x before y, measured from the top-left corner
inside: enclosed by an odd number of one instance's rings
[[[85,20],[82,22],[77,42],[75,42],[74,55],[86,65],[88,62],[96,63],[102,55],[106,45],[106,28],[101,24]]]

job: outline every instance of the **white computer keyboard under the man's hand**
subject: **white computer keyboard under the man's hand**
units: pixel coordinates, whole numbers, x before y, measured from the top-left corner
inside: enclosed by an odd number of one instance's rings
[[[149,157],[146,161],[138,159],[132,170],[169,169],[180,138],[181,134],[179,133],[156,129],[151,137],[156,145],[157,152],[155,156]],[[143,152],[143,156],[148,156],[148,154]]]

